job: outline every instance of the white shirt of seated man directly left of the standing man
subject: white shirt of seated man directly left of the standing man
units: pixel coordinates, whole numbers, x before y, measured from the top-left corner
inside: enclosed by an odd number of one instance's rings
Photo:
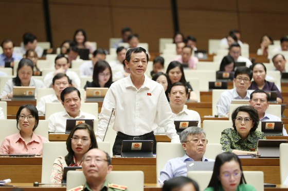
[[[67,119],[96,119],[92,114],[80,111],[77,117],[71,117],[66,111],[52,114],[48,119],[49,132],[65,133]]]

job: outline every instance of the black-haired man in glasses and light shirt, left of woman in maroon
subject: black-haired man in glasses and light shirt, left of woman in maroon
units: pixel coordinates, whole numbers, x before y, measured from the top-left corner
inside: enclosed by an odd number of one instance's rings
[[[234,73],[233,82],[235,88],[227,90],[220,95],[217,102],[217,115],[228,116],[229,105],[232,99],[249,99],[250,93],[247,91],[252,79],[252,72],[247,67],[238,67]]]

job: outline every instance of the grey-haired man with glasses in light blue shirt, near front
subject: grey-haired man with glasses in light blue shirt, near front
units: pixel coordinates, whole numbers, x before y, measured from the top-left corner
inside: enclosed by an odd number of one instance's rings
[[[190,126],[185,129],[181,135],[180,140],[182,147],[185,150],[183,157],[170,159],[160,171],[158,183],[163,184],[166,180],[169,180],[178,176],[187,176],[187,161],[214,161],[213,159],[207,159],[204,157],[206,151],[206,134],[201,128],[196,126]]]

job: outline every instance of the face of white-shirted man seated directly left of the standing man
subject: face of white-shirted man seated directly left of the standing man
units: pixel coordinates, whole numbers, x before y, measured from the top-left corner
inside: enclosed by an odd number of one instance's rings
[[[78,96],[77,91],[65,94],[62,105],[71,117],[75,118],[78,116],[80,114],[81,98]]]

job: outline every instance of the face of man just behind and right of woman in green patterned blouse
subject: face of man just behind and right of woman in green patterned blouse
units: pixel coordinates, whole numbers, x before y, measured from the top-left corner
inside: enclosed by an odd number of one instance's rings
[[[255,108],[259,114],[262,116],[269,107],[269,102],[265,93],[254,93],[249,104]]]

